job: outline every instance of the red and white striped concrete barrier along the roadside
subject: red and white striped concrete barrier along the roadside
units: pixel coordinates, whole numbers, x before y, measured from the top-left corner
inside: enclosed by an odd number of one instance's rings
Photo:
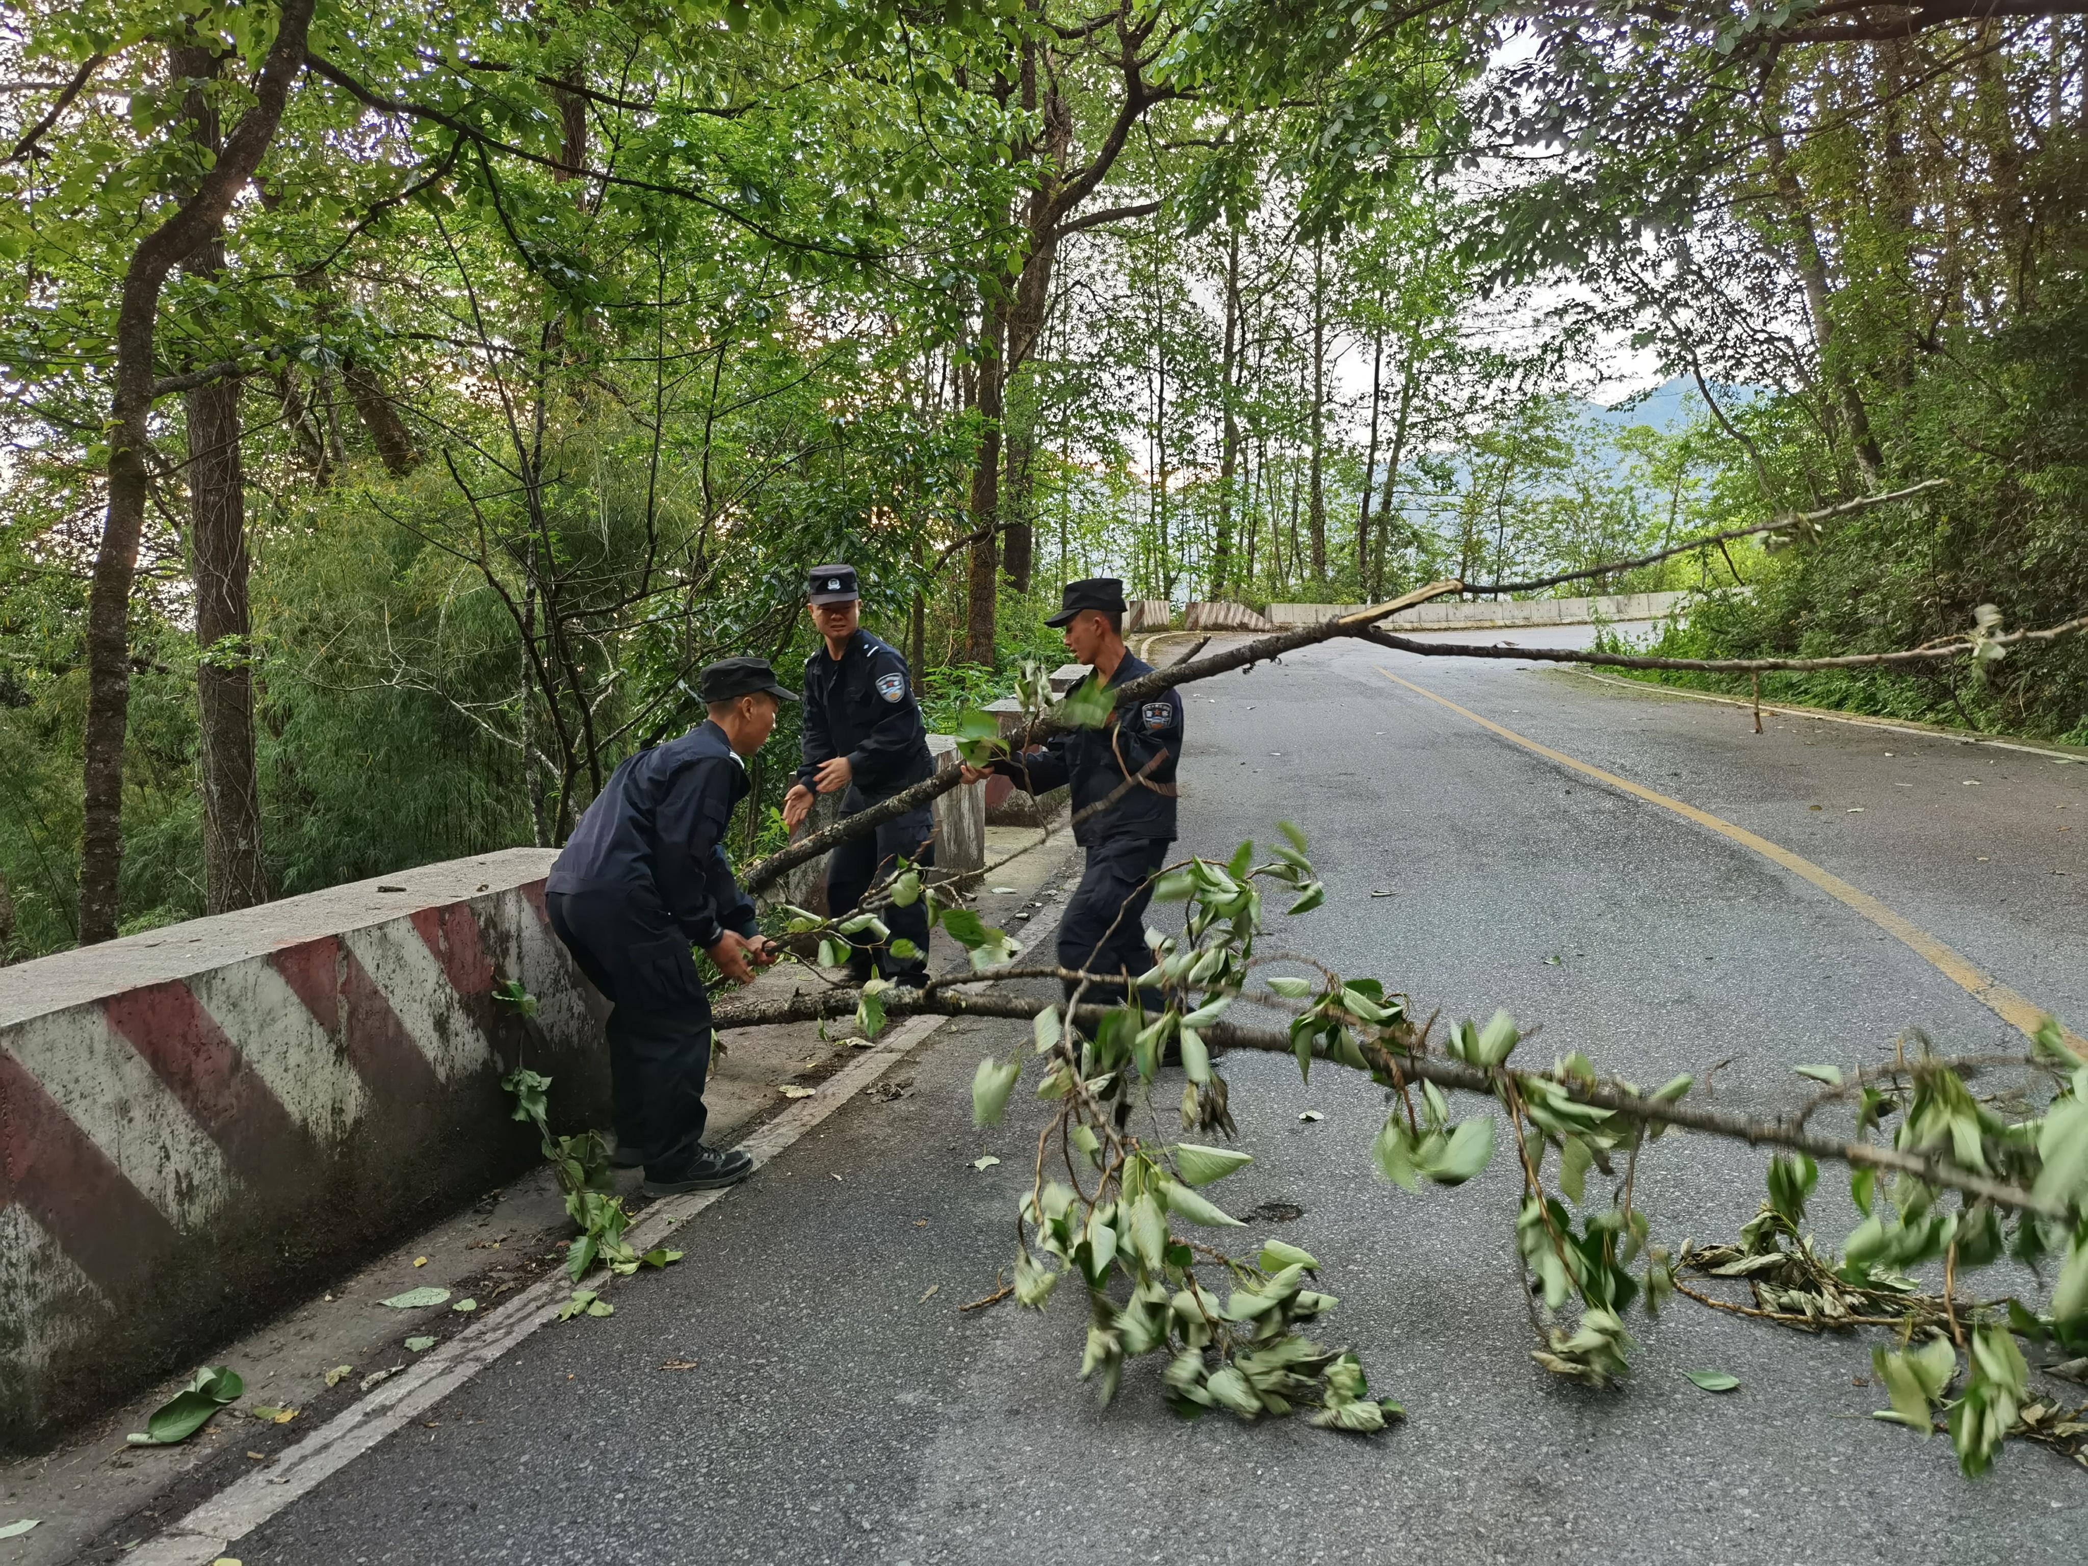
[[[526,1167],[499,1079],[608,1123],[507,850],[0,969],[0,1447],[23,1449]],[[495,1000],[520,981],[535,1023]]]

